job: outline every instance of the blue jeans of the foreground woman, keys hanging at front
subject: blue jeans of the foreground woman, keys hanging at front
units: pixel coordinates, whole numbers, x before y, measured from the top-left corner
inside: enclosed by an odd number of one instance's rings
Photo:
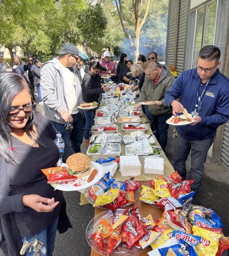
[[[55,245],[55,235],[57,230],[58,219],[56,218],[55,222],[49,225],[44,230],[41,230],[39,233],[35,234],[32,237],[26,237],[26,241],[33,243],[33,241],[37,238],[38,241],[43,243],[39,252],[42,256],[52,256],[54,245]],[[21,237],[22,243],[25,241],[25,237]],[[28,248],[25,256],[31,256],[34,254],[33,250],[30,253],[30,249]]]

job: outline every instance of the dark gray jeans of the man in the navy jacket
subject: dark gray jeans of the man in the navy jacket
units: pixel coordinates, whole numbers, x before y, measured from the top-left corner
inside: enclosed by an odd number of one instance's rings
[[[181,135],[175,139],[174,143],[174,169],[186,179],[186,160],[191,151],[191,169],[188,180],[195,180],[192,191],[199,191],[203,179],[204,163],[207,159],[207,152],[211,147],[214,138],[203,140],[186,140]]]

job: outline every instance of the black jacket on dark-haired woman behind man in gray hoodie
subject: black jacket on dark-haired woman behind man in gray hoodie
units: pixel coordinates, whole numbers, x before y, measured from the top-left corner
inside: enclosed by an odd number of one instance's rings
[[[90,71],[85,72],[81,88],[83,101],[86,103],[98,102],[99,94],[103,93],[100,76],[92,75]]]

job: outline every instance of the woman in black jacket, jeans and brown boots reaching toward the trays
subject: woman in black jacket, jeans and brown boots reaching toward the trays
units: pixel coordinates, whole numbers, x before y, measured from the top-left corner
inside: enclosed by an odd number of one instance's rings
[[[98,102],[99,95],[105,91],[109,91],[108,87],[101,87],[100,75],[101,65],[98,61],[90,63],[89,71],[85,73],[82,83],[83,101],[85,103]],[[94,109],[84,110],[86,124],[85,128],[90,129],[93,125]],[[89,146],[89,130],[84,131],[85,147]]]

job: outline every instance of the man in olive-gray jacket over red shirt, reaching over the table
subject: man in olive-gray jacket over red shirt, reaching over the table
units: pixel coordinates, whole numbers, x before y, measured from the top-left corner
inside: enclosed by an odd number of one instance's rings
[[[174,83],[174,76],[169,68],[163,64],[156,64],[154,60],[148,60],[144,64],[145,81],[140,91],[136,109],[141,107],[140,102],[153,101],[154,105],[148,105],[151,113],[151,129],[156,130],[155,136],[163,151],[167,144],[169,124],[166,120],[172,116],[172,110],[165,105],[164,96]]]

